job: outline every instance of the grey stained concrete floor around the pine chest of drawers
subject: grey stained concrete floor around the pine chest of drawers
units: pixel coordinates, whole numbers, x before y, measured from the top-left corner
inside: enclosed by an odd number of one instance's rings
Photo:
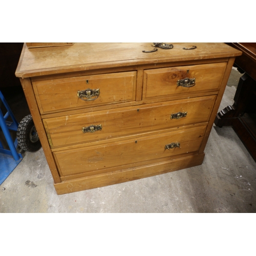
[[[233,104],[240,76],[232,70],[220,110]],[[20,121],[28,109],[17,97]],[[58,196],[40,149],[0,186],[0,212],[256,212],[256,163],[231,127],[214,126],[200,166]]]

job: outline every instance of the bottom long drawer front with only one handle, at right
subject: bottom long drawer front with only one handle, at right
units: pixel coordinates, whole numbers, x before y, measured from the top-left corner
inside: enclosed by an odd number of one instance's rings
[[[61,176],[93,172],[94,170],[102,170],[103,173],[111,167],[122,166],[125,168],[125,165],[133,163],[140,166],[142,162],[149,160],[172,159],[177,155],[198,152],[205,128],[206,126],[199,126],[179,132],[142,136],[133,140],[117,141],[116,143],[60,151],[53,154]]]

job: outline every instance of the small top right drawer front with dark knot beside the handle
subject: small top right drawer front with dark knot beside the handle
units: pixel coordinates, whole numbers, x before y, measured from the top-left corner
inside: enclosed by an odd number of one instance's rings
[[[143,97],[219,90],[225,69],[226,63],[213,63],[145,70]]]

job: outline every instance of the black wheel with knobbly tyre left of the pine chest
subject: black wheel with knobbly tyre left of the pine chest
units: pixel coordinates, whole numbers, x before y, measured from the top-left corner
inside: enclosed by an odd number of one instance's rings
[[[25,151],[38,151],[41,147],[38,134],[31,115],[25,116],[20,121],[17,130],[17,141],[20,148]]]

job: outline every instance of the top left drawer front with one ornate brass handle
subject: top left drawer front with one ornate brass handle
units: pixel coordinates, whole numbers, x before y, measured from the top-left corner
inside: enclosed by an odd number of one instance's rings
[[[32,82],[40,113],[134,101],[137,72]]]

